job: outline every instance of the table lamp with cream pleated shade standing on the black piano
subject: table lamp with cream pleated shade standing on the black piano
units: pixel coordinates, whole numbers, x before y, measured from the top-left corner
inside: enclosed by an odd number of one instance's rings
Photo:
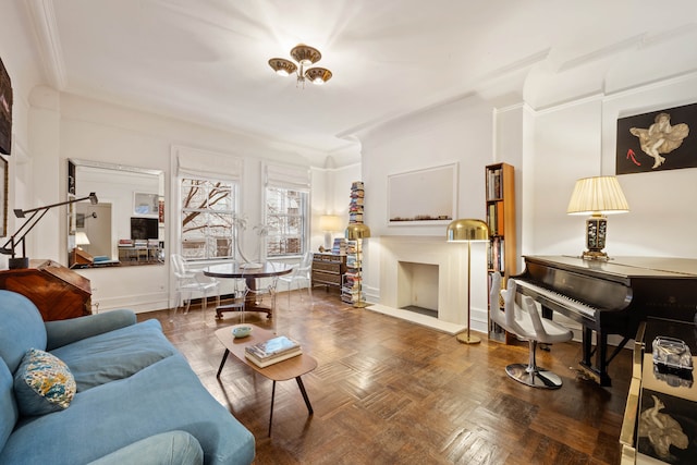
[[[608,260],[606,248],[609,213],[629,211],[627,199],[615,176],[583,178],[576,181],[568,201],[568,215],[590,215],[586,220],[586,247],[580,254],[586,260]]]

